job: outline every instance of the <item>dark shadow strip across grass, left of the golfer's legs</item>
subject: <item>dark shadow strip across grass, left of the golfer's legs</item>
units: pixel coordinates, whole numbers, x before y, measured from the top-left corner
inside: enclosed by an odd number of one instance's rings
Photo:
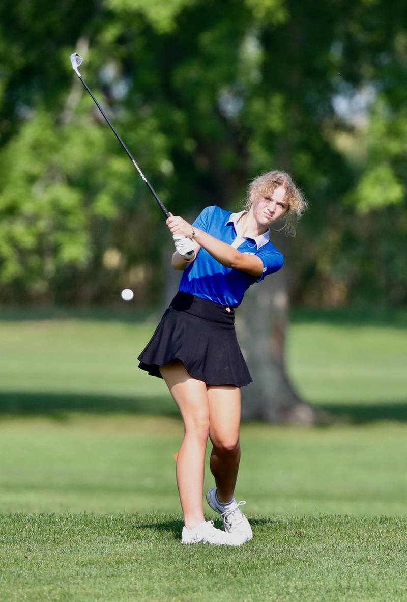
[[[89,395],[74,393],[0,393],[0,415],[48,415],[64,418],[67,412],[152,414],[178,416],[169,396]]]

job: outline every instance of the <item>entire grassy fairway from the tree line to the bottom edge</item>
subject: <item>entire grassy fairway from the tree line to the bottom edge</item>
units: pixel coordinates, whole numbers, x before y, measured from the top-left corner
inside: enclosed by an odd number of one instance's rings
[[[337,423],[243,425],[254,540],[215,550],[179,541],[182,424],[135,369],[153,327],[4,314],[1,602],[406,600],[405,320],[294,314],[293,379]]]

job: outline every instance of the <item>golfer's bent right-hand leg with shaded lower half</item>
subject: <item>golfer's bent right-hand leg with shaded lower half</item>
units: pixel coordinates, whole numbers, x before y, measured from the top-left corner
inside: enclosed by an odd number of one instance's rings
[[[210,471],[215,477],[218,500],[227,503],[233,499],[240,462],[240,389],[233,385],[208,385],[207,396],[213,444]]]

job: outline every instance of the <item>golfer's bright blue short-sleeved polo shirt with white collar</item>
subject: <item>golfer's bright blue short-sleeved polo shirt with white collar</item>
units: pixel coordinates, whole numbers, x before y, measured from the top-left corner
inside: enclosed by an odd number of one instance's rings
[[[256,238],[237,237],[235,224],[243,213],[245,211],[231,213],[216,205],[206,207],[195,220],[194,226],[230,244],[241,253],[260,257],[264,266],[262,275],[251,276],[240,270],[225,267],[201,247],[196,259],[183,272],[180,291],[221,305],[237,307],[250,285],[280,270],[284,261],[283,255],[270,241],[269,231]]]

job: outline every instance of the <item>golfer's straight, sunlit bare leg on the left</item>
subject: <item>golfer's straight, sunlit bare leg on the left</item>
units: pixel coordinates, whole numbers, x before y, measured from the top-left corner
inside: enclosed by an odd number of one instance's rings
[[[184,421],[185,434],[177,457],[177,485],[185,526],[194,529],[204,520],[203,479],[209,434],[206,384],[189,376],[179,360],[168,362],[160,372]]]

